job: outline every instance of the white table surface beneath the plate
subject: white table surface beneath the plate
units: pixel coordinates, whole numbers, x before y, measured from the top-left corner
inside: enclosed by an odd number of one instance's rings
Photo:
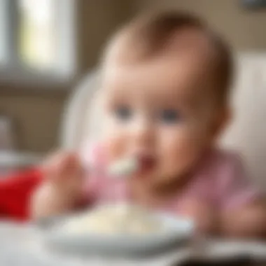
[[[1,266],[85,266],[85,265],[232,265],[225,263],[228,258],[237,258],[238,255],[250,255],[255,259],[266,262],[266,244],[255,242],[240,243],[233,241],[205,241],[201,248],[183,248],[178,251],[157,255],[153,258],[74,258],[59,255],[48,251],[41,243],[39,231],[27,225],[15,223],[0,223],[0,265]],[[194,246],[195,247],[195,246]],[[200,260],[189,259],[201,258]],[[214,261],[215,260],[215,261]],[[223,262],[224,261],[224,262]],[[223,262],[223,264],[222,264]],[[266,263],[250,264],[248,261],[233,265],[266,265]]]

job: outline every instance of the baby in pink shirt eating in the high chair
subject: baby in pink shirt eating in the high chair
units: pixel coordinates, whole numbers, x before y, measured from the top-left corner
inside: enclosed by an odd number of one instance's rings
[[[219,36],[185,13],[144,15],[114,36],[102,76],[104,137],[81,156],[61,153],[45,163],[34,218],[120,198],[190,216],[207,234],[265,236],[262,195],[239,157],[216,148],[232,80],[230,50]],[[87,174],[90,155],[99,169],[127,156],[140,168],[125,191],[122,181]]]

